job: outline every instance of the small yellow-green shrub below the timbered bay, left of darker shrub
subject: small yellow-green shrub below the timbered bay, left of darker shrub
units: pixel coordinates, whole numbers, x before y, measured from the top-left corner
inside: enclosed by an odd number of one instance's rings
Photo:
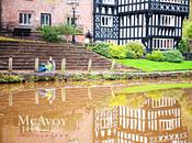
[[[149,61],[155,61],[155,62],[163,62],[165,56],[161,51],[153,51],[151,54],[147,54],[146,58]]]

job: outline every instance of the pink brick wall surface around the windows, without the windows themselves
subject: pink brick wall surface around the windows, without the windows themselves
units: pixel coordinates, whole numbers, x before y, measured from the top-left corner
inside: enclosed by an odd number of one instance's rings
[[[68,0],[1,0],[2,2],[2,25],[4,29],[21,26],[19,24],[19,13],[32,13],[32,28],[41,26],[41,13],[52,14],[52,25],[67,22],[67,18],[72,16],[71,7]],[[92,0],[79,0],[77,8],[78,24],[83,26],[83,31],[92,31]]]

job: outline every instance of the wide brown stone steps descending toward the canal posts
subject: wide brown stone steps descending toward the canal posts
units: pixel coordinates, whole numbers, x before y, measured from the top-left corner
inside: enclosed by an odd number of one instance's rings
[[[49,56],[56,62],[57,70],[61,69],[63,58],[66,58],[67,70],[87,70],[90,58],[92,59],[92,70],[111,68],[111,61],[82,46],[32,42],[0,42],[0,70],[8,70],[9,57],[13,58],[13,70],[34,70],[36,57],[39,58],[39,63],[46,63]],[[115,67],[122,68],[120,65]]]

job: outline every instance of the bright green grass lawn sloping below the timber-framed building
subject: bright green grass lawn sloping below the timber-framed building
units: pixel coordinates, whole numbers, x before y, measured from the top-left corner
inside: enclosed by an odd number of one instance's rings
[[[192,62],[182,63],[153,62],[147,59],[117,59],[118,63],[142,69],[144,72],[166,72],[166,70],[187,70],[192,69]]]

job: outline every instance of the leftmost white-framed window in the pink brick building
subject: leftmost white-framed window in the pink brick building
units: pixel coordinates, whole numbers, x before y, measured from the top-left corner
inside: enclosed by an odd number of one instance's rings
[[[31,13],[20,13],[19,23],[22,25],[32,25],[32,14]]]

